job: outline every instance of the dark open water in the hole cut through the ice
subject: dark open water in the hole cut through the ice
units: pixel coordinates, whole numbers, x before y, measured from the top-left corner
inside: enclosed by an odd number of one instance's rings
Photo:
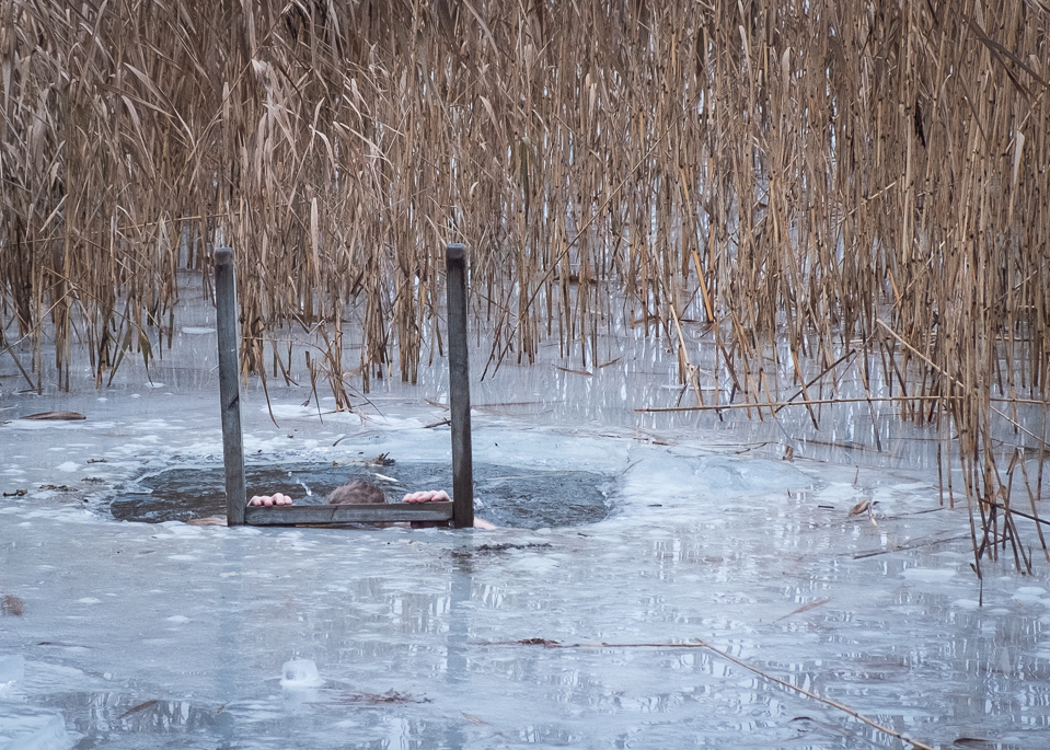
[[[378,484],[391,503],[416,489],[452,488],[452,468],[447,463],[253,465],[245,474],[249,497],[281,492],[301,504],[323,503],[325,495],[351,478]],[[221,466],[168,469],[139,480],[148,494],[118,494],[108,510],[117,520],[150,523],[226,515],[223,483]],[[610,477],[590,472],[475,463],[474,511],[496,526],[523,529],[593,523],[611,510],[611,487]]]

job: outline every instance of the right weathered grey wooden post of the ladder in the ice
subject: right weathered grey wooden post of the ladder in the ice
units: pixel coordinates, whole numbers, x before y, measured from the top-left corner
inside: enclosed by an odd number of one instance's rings
[[[445,249],[448,270],[449,411],[452,417],[452,526],[474,526],[474,465],[471,454],[470,356],[466,348],[466,253]]]

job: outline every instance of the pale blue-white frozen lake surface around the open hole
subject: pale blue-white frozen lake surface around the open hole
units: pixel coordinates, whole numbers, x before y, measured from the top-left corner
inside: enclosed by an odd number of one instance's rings
[[[1050,565],[985,561],[979,607],[921,436],[884,425],[877,453],[856,415],[821,448],[805,415],[637,414],[677,388],[637,339],[632,367],[505,364],[473,395],[475,463],[609,477],[603,520],[113,520],[149,475],[220,465],[214,334],[176,343],[109,390],[20,393],[0,364],[0,749],[909,747],[718,651],[930,747],[1050,747]],[[279,427],[252,388],[249,463],[442,464],[443,366],[360,414],[270,382]],[[86,419],[16,418],[49,409]]]

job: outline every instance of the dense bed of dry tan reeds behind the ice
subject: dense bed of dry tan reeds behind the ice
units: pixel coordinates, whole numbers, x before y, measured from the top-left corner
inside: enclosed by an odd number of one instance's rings
[[[464,242],[486,373],[633,326],[697,407],[816,422],[810,390],[880,368],[962,466],[976,566],[1027,569],[1009,489],[1038,516],[1046,412],[1008,402],[1043,404],[1050,361],[1048,39],[1025,0],[0,0],[2,345],[37,386],[84,348],[104,384],[229,244],[245,377],[289,377],[303,326],[349,408],[350,370],[440,351]]]

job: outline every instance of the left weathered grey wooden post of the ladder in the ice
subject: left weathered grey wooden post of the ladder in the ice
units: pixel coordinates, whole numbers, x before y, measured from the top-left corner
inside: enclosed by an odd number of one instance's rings
[[[216,331],[219,337],[219,400],[222,408],[222,460],[226,464],[226,519],[243,526],[244,451],[241,443],[241,393],[238,386],[236,276],[231,247],[215,251]]]

